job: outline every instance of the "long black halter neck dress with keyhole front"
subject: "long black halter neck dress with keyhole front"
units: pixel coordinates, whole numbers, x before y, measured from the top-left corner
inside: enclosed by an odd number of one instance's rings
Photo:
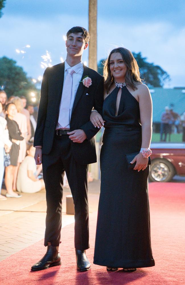
[[[122,88],[118,115],[116,87],[104,100],[105,130],[100,152],[101,188],[94,264],[139,268],[154,266],[148,200],[149,166],[128,169],[125,155],[142,142],[139,103]]]

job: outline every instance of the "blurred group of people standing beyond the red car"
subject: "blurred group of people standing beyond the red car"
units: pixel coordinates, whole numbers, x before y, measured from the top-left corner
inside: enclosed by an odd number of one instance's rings
[[[171,141],[172,133],[181,133],[182,141],[185,142],[185,112],[180,116],[172,108],[165,107],[161,115],[160,141]],[[163,136],[164,135],[164,136]]]

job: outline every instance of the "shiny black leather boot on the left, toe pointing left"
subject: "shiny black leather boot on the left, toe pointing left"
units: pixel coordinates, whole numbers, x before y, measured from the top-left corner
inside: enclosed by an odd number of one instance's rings
[[[48,243],[46,254],[42,257],[41,260],[32,266],[31,270],[38,271],[57,265],[61,265],[61,258],[58,247],[53,247],[50,243]]]

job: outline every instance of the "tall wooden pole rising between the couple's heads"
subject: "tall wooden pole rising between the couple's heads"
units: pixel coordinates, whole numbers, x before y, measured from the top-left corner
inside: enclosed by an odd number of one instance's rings
[[[89,68],[97,71],[97,0],[89,0]]]

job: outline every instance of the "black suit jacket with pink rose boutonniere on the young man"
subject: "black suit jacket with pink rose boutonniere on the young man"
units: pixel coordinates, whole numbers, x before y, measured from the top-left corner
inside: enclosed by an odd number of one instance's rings
[[[96,162],[93,137],[99,131],[90,122],[90,115],[93,107],[98,113],[102,114],[103,77],[85,65],[83,68],[81,80],[85,76],[89,76],[92,79],[92,85],[88,88],[82,82],[79,83],[71,114],[70,131],[82,129],[86,133],[87,139],[83,143],[73,143],[71,141],[71,148],[78,163],[90,164]],[[46,68],[42,80],[37,127],[34,135],[34,146],[41,145],[43,154],[49,154],[52,150],[59,116],[63,80],[64,62]]]

